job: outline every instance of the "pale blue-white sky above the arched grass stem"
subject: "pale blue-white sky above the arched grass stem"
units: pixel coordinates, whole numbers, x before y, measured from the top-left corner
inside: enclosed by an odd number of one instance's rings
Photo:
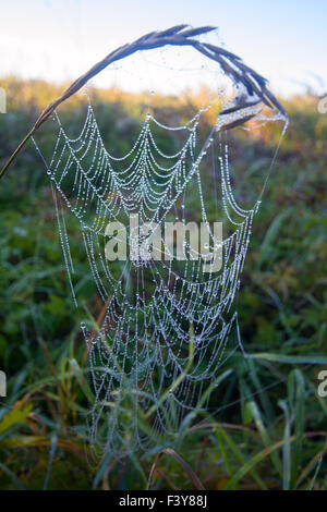
[[[327,89],[326,0],[1,0],[0,77],[75,80],[118,46],[180,23],[215,25],[274,92]],[[322,87],[320,89],[322,90]],[[318,90],[318,92],[319,92]]]

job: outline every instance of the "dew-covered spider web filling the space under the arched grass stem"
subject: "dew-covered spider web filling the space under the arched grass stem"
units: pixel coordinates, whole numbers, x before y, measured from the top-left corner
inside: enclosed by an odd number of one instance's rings
[[[74,103],[78,133],[63,109],[48,121],[50,153],[34,137],[72,300],[78,307],[73,236],[102,304],[98,326],[88,317],[81,325],[95,394],[87,417],[95,455],[147,449],[174,435],[185,415],[207,406],[221,364],[242,350],[235,295],[274,162],[241,203],[233,132],[246,138],[265,123],[281,121],[281,132],[286,125],[281,112],[194,48],[143,51],[101,75],[100,88],[88,85]],[[111,99],[102,111],[105,87]],[[121,229],[108,230],[112,222]],[[182,254],[173,236],[170,244],[165,237],[166,224],[175,222],[185,227]],[[203,227],[205,243],[195,248],[190,222]],[[222,230],[218,242],[214,222]],[[125,257],[108,257],[108,242],[126,242]]]

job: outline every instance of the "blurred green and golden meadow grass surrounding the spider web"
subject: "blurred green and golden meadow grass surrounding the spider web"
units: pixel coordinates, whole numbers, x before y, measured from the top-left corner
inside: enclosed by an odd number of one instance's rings
[[[3,163],[61,87],[15,77],[1,86],[8,92]],[[327,367],[327,114],[318,113],[317,101],[306,94],[283,102],[290,127],[254,222],[238,298],[250,357],[221,367],[219,401],[181,427],[174,451],[108,453],[99,467],[89,465],[85,444],[90,389],[83,308],[71,298],[44,169],[33,149],[20,156],[0,183],[0,369],[8,376],[1,489],[144,489],[149,479],[153,488],[189,489],[197,478],[208,489],[327,490],[327,398],[317,394],[318,373]],[[98,92],[95,107],[105,141],[126,150],[142,97]],[[73,127],[77,109],[78,99],[63,112]],[[110,122],[122,115],[114,138]],[[47,136],[45,130],[44,144]],[[246,162],[268,161],[277,130],[259,132],[251,146],[235,137],[237,171],[256,188],[258,175]],[[242,180],[233,183],[239,195]],[[96,318],[101,306],[82,255],[76,272],[78,296]]]

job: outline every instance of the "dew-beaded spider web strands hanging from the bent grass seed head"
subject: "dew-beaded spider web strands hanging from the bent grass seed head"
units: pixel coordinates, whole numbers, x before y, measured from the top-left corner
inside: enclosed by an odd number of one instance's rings
[[[147,58],[141,59],[148,65]],[[160,59],[166,69],[166,51],[160,51]],[[198,72],[196,63],[189,62],[189,71]],[[169,71],[175,74],[175,69]],[[137,60],[129,73],[144,80]],[[215,68],[216,81],[217,76]],[[153,98],[154,90],[148,89]],[[105,308],[96,331],[87,320],[81,324],[95,393],[88,416],[90,444],[101,456],[122,446],[147,449],[154,439],[174,435],[185,414],[206,407],[221,364],[242,349],[234,298],[263,191],[247,209],[234,197],[227,129],[250,117],[255,119],[252,129],[286,120],[280,112],[263,113],[259,98],[249,97],[239,85],[233,84],[230,96],[217,84],[213,90],[210,84],[191,119],[172,115],[168,123],[148,105],[134,143],[118,155],[108,150],[87,89],[84,95],[87,108],[77,136],[68,133],[56,111],[50,158],[33,141],[50,179],[73,301],[77,306],[66,228],[71,217],[78,221]],[[246,99],[245,107],[235,110],[240,98],[243,103]],[[169,149],[164,139],[170,142]],[[183,249],[189,257],[178,259],[174,249],[168,254],[164,237],[156,246],[158,259],[138,253],[136,258],[109,261],[107,225],[129,225],[131,216],[137,216],[140,225],[155,229],[167,221],[184,227],[192,220],[203,222],[206,252],[211,253],[216,239],[210,222],[222,222],[220,270],[205,270],[203,255],[192,254],[187,240]],[[123,240],[122,233],[116,240]],[[140,245],[142,236],[137,240]]]

